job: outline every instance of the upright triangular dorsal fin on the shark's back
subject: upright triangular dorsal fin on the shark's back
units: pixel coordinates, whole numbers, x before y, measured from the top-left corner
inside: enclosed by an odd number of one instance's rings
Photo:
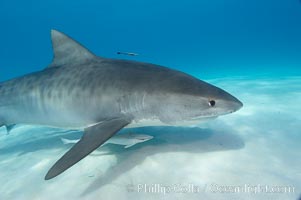
[[[68,63],[82,63],[96,57],[84,46],[57,30],[51,30],[53,60],[48,67],[61,66]]]

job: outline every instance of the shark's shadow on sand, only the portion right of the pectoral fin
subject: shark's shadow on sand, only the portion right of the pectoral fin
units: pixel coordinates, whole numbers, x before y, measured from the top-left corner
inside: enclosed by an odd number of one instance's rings
[[[96,176],[91,185],[82,193],[88,195],[106,184],[112,183],[123,173],[142,163],[148,156],[166,152],[206,153],[227,151],[244,147],[243,140],[228,132],[215,132],[211,129],[184,127],[143,127],[129,129],[135,133],[154,136],[154,139],[124,149],[110,146],[117,157],[116,165],[104,174]]]

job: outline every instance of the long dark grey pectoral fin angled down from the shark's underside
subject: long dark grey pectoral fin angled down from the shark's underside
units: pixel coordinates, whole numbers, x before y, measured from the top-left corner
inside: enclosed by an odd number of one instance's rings
[[[73,166],[129,123],[127,119],[118,118],[86,128],[81,140],[51,167],[45,176],[45,180],[54,178]]]

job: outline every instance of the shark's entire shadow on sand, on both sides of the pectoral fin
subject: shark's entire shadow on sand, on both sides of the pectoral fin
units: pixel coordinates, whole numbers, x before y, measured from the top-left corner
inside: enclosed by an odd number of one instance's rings
[[[231,128],[223,131],[214,129],[202,129],[198,127],[141,127],[123,129],[118,134],[133,132],[154,136],[154,139],[137,144],[125,149],[120,145],[106,145],[100,152],[94,152],[91,156],[114,154],[117,163],[114,167],[101,175],[95,176],[95,180],[85,189],[82,196],[88,195],[106,184],[112,183],[123,173],[142,163],[145,158],[155,154],[167,152],[206,153],[214,151],[236,150],[244,147],[243,140],[233,134]],[[20,126],[9,135],[1,132],[0,147],[1,156],[15,154],[22,156],[30,152],[48,149],[68,150],[70,145],[64,145],[61,137],[79,139],[80,131],[66,131],[47,127]],[[105,150],[108,153],[104,153]],[[101,166],[100,166],[101,167]]]

